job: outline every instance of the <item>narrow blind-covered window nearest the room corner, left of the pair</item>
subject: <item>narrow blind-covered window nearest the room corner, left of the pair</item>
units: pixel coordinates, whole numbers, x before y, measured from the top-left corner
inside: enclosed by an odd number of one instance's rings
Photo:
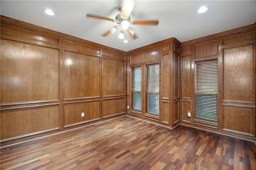
[[[131,68],[132,110],[141,111],[141,67]]]

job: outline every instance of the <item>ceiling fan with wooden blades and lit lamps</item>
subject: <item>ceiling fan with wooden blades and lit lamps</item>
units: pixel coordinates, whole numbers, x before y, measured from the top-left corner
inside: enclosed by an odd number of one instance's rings
[[[96,15],[96,14],[90,14],[90,13],[86,14],[86,16],[116,22],[117,25],[110,27],[108,29],[108,31],[106,31],[105,33],[102,34],[103,37],[109,35],[110,33],[113,34],[120,27],[121,31],[118,35],[118,37],[120,39],[124,39],[125,32],[127,32],[132,37],[132,39],[136,39],[137,36],[135,34],[135,29],[130,27],[129,24],[132,24],[132,25],[158,25],[159,21],[158,20],[131,20],[130,14],[132,13],[134,5],[135,5],[134,0],[123,0],[122,6],[119,8],[121,14],[118,14],[115,19],[108,18],[105,16]]]

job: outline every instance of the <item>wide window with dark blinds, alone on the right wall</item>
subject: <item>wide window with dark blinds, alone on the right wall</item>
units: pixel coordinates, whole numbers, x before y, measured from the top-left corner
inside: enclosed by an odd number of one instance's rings
[[[217,123],[218,61],[195,63],[195,118]]]

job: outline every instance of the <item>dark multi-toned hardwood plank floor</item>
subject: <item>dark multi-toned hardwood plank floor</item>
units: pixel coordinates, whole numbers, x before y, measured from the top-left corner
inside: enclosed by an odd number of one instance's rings
[[[1,169],[256,170],[253,142],[120,117],[5,147]]]

